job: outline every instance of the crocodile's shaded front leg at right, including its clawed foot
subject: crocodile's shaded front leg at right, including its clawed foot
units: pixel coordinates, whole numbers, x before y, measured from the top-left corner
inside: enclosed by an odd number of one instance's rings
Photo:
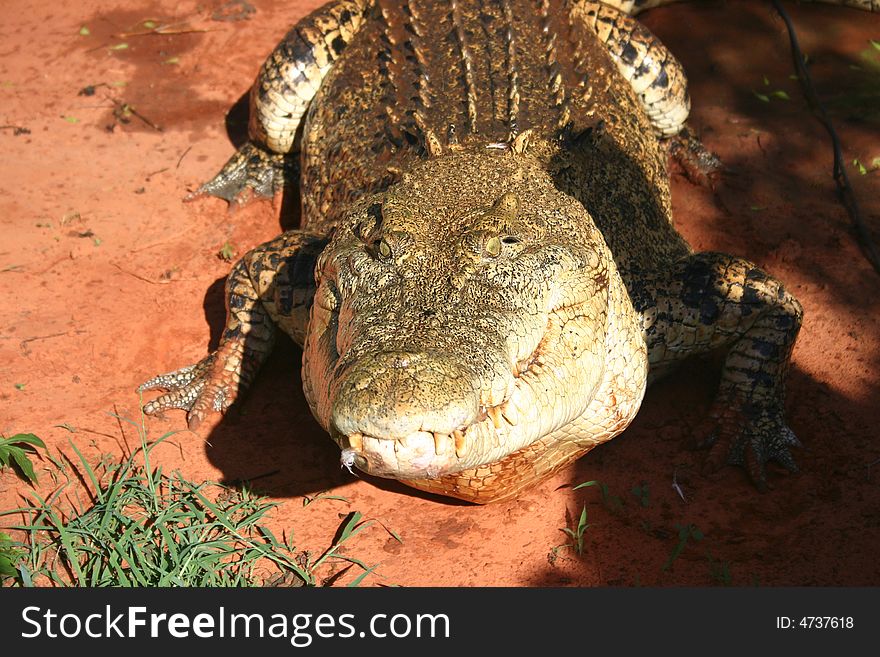
[[[710,469],[742,465],[763,490],[765,464],[796,471],[800,446],[785,422],[785,376],[803,309],[782,284],[746,260],[700,253],[635,291],[650,378],[687,356],[726,349],[710,410]]]

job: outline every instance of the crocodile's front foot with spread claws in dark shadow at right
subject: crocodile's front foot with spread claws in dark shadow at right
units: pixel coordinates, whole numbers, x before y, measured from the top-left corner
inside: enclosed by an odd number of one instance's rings
[[[716,401],[710,412],[714,429],[702,443],[710,447],[705,469],[715,472],[724,465],[745,467],[760,491],[767,489],[766,464],[775,461],[789,472],[797,472],[789,449],[801,447],[785,423],[782,404]]]

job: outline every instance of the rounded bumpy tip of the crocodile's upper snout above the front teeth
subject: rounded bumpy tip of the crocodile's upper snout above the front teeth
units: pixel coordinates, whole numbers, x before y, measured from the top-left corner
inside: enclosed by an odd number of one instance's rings
[[[345,373],[330,419],[344,435],[451,434],[477,418],[479,401],[479,382],[460,365],[430,353],[382,352]]]

